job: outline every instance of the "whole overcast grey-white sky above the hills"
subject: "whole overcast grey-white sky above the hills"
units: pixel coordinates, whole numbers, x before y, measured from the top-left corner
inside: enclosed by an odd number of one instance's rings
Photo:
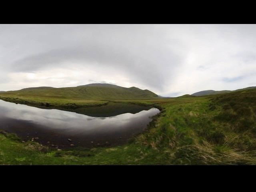
[[[109,83],[176,97],[255,77],[255,24],[0,24],[0,91]]]

